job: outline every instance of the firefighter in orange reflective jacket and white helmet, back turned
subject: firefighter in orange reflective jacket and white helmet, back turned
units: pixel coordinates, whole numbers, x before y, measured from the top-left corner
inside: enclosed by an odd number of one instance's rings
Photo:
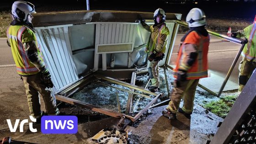
[[[176,78],[171,92],[167,111],[162,114],[170,119],[176,119],[176,113],[181,112],[187,118],[193,111],[193,101],[199,79],[208,77],[208,47],[210,37],[206,25],[206,16],[201,9],[193,8],[189,11],[186,21],[189,31],[181,38],[181,47],[174,69]],[[180,108],[180,101],[184,104]]]

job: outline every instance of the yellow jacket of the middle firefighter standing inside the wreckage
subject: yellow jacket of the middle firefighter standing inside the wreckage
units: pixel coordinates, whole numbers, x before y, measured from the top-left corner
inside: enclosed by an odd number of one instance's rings
[[[167,36],[170,34],[166,24],[159,24],[155,27],[150,26],[150,32],[151,35],[149,37],[149,43],[147,43],[146,48],[150,52],[154,52],[155,50],[158,53],[165,53]]]

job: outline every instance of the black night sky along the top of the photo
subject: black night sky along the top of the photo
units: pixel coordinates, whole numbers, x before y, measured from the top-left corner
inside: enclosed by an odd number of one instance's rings
[[[1,0],[0,11],[11,9],[15,0]],[[36,6],[37,12],[86,10],[86,0],[28,0]],[[91,10],[123,10],[154,12],[162,8],[165,12],[181,13],[182,19],[194,7],[205,11],[208,17],[254,19],[256,0],[90,0]],[[194,4],[197,2],[197,4]]]

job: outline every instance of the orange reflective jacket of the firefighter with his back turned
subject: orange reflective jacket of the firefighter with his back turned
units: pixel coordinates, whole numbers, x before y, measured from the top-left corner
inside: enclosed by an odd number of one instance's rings
[[[200,79],[208,77],[208,47],[210,43],[210,36],[204,37],[198,34],[196,31],[190,32],[181,44],[178,57],[176,60],[175,72],[179,69],[187,71],[187,80]],[[186,44],[192,44],[192,47],[186,47]],[[187,49],[186,49],[187,48]],[[190,51],[188,48],[192,48],[197,57],[191,66],[188,64],[190,59]],[[177,76],[174,76],[177,78]]]

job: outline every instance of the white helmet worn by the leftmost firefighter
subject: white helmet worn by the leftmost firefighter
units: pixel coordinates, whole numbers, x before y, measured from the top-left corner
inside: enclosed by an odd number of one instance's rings
[[[15,1],[11,7],[11,13],[14,17],[27,21],[27,16],[31,13],[36,13],[35,5],[27,1]]]

